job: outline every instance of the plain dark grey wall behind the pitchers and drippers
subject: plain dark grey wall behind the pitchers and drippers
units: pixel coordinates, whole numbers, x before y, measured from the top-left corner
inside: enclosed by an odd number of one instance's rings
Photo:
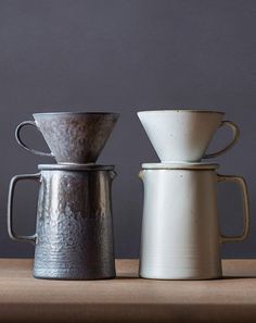
[[[117,257],[138,257],[142,162],[157,158],[136,112],[217,109],[241,127],[241,139],[217,161],[220,173],[243,175],[252,201],[245,243],[225,257],[256,256],[256,1],[1,0],[0,1],[0,256],[33,257],[33,247],[7,234],[7,195],[14,174],[34,173],[37,158],[15,144],[15,126],[33,112],[116,111],[120,119],[99,160],[115,164],[113,186]],[[43,140],[34,129],[24,138]],[[230,134],[219,131],[212,146]],[[37,186],[21,184],[15,227],[34,233]],[[219,190],[222,232],[241,231],[236,188]]]

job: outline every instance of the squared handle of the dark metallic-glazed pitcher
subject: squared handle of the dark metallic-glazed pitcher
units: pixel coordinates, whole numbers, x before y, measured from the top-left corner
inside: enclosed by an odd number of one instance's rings
[[[38,174],[26,174],[26,175],[16,175],[12,178],[9,188],[9,197],[8,197],[8,233],[10,238],[17,241],[28,241],[36,244],[37,235],[33,236],[20,236],[16,235],[13,231],[13,199],[14,199],[14,190],[17,182],[23,179],[30,179],[40,182],[40,173]]]

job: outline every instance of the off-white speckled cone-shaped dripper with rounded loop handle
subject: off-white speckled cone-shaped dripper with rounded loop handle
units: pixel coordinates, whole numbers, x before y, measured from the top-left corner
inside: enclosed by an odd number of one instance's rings
[[[238,126],[222,121],[225,113],[196,110],[142,111],[138,116],[162,162],[199,162],[225,153],[239,139]],[[232,141],[218,152],[206,150],[219,127],[233,132]]]

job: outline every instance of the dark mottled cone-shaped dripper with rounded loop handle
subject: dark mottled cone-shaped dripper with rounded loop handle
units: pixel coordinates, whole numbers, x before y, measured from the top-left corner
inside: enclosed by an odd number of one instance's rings
[[[35,121],[24,121],[15,132],[17,144],[35,154],[54,157],[60,164],[94,163],[110,137],[119,114],[102,112],[35,113]],[[23,126],[38,128],[51,152],[29,148],[21,139]]]

